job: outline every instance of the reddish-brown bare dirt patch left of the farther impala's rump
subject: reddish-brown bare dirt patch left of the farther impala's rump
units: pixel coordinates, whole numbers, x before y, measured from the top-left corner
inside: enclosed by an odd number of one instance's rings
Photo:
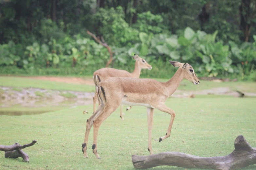
[[[75,77],[38,76],[38,77],[25,77],[25,78],[48,80],[48,81],[58,81],[58,82],[72,83],[72,84],[94,85],[93,77],[92,78],[75,78]]]

